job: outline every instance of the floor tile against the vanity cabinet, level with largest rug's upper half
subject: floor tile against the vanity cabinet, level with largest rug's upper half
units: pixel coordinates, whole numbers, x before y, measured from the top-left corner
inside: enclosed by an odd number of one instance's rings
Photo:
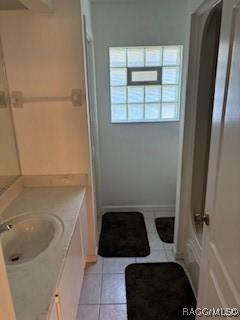
[[[84,276],[80,304],[100,303],[101,280],[101,274],[87,274]]]

